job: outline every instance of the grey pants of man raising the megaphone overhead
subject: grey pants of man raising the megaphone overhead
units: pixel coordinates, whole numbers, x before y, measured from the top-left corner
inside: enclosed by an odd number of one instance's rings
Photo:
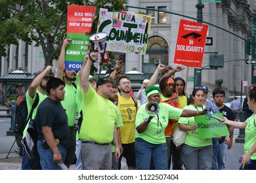
[[[81,144],[81,161],[84,170],[111,170],[111,144]]]

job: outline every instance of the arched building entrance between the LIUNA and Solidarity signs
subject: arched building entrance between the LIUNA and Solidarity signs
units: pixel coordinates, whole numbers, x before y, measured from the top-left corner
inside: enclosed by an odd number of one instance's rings
[[[150,37],[146,54],[142,58],[142,73],[151,77],[158,67],[158,63],[168,65],[169,46],[165,39],[160,36]]]

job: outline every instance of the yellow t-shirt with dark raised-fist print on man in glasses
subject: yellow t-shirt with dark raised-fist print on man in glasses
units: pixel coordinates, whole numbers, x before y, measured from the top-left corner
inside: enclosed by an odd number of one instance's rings
[[[123,126],[120,127],[122,144],[135,142],[135,118],[139,105],[137,105],[136,108],[135,102],[131,97],[126,99],[125,97],[118,95],[117,107],[121,111],[123,122]]]

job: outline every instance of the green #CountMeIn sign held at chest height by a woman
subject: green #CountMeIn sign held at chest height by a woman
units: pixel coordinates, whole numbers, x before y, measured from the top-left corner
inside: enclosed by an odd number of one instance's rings
[[[214,115],[223,117],[222,113],[217,113]],[[226,124],[222,124],[219,120],[215,120],[214,118],[211,118],[211,120],[206,120],[205,115],[194,116],[194,119],[198,125],[198,134],[202,139],[230,135]]]

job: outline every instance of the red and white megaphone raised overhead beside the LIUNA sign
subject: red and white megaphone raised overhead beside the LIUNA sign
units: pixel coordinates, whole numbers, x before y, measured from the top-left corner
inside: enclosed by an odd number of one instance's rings
[[[107,34],[103,32],[95,33],[89,37],[89,40],[95,43],[98,53],[100,54],[100,60],[103,64],[107,64],[108,61],[110,61],[110,57],[106,51],[106,37]]]

